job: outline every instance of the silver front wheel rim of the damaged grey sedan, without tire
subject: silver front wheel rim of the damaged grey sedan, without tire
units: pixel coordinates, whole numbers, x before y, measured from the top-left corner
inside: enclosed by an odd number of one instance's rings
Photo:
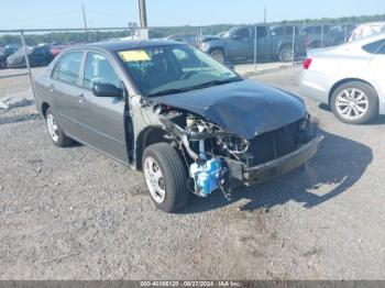
[[[154,201],[163,203],[166,199],[165,179],[160,165],[153,157],[144,160],[144,178]]]

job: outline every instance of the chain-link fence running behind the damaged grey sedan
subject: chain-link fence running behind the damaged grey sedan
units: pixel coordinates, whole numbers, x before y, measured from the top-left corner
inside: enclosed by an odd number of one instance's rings
[[[63,49],[77,44],[143,37],[178,41],[256,71],[263,63],[292,65],[304,59],[308,49],[339,45],[354,27],[342,23],[0,31],[0,109],[11,98],[33,98],[33,77]]]

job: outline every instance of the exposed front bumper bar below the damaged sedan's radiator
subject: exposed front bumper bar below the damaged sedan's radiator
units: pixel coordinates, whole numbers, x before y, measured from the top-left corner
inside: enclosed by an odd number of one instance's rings
[[[278,175],[288,173],[311,159],[316,155],[322,140],[323,136],[317,136],[304,146],[280,158],[250,168],[241,162],[228,160],[231,175],[246,186],[267,181]]]

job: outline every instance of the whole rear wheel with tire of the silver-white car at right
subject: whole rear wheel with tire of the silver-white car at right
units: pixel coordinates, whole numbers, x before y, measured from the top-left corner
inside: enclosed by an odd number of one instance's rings
[[[378,114],[376,91],[372,86],[360,81],[338,87],[331,96],[330,106],[336,118],[348,124],[364,124]]]

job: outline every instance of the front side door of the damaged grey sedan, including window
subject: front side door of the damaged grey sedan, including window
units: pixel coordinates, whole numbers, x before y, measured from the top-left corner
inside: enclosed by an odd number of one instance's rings
[[[128,163],[124,129],[124,97],[96,97],[95,82],[124,88],[109,57],[99,52],[88,52],[84,66],[84,101],[79,109],[82,139],[97,149]]]

